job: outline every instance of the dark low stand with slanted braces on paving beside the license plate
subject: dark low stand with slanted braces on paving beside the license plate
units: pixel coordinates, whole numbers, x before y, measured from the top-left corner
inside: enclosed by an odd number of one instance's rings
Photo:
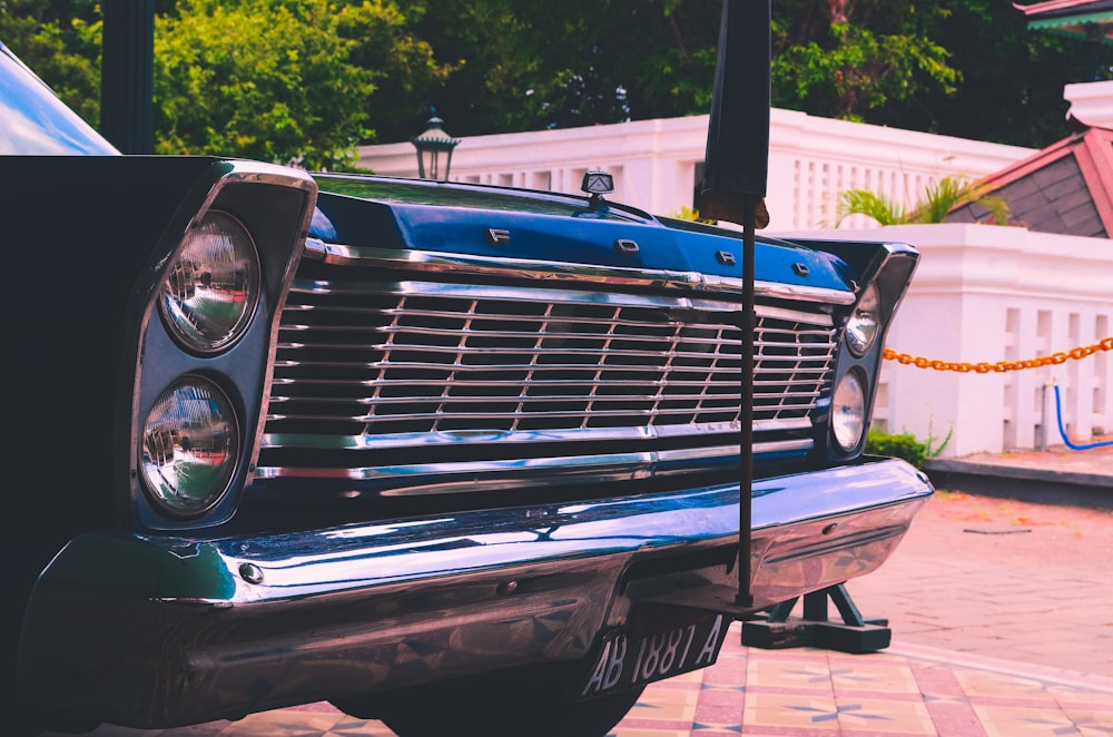
[[[841,625],[828,621],[828,598],[841,615]],[[766,650],[817,647],[863,655],[887,648],[893,639],[889,620],[863,619],[844,583],[805,593],[804,617],[789,617],[798,600],[775,606],[765,620],[742,622],[742,645]]]

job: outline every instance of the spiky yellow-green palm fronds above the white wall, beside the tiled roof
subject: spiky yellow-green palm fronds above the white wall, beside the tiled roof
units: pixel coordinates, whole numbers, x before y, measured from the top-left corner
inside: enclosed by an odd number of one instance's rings
[[[951,210],[966,204],[984,207],[991,216],[987,222],[997,225],[1007,225],[1012,218],[1008,203],[991,195],[984,184],[962,176],[946,176],[927,185],[912,209],[868,189],[848,189],[839,194],[835,227],[851,215],[865,215],[879,225],[943,223]]]

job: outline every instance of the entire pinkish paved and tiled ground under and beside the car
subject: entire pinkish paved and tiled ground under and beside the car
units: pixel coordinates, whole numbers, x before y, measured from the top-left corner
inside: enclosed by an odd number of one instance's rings
[[[1082,453],[989,460],[1113,476],[1113,449]],[[936,494],[893,558],[848,584],[863,615],[889,619],[889,648],[761,650],[742,647],[736,631],[716,666],[650,686],[612,737],[1113,735],[1113,511],[1002,491]],[[317,704],[237,723],[93,735],[392,733]]]

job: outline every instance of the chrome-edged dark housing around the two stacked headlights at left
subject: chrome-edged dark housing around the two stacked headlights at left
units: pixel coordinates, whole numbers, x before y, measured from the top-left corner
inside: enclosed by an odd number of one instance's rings
[[[316,183],[304,171],[255,161],[207,160],[177,202],[161,238],[147,246],[151,253],[132,288],[124,328],[125,351],[134,370],[124,374],[129,401],[120,404],[119,421],[128,435],[127,442],[119,443],[116,462],[121,519],[136,529],[209,528],[236,514],[254,478],[282,306],[305,248],[316,196]],[[225,287],[245,287],[244,308],[225,323],[232,330],[210,333],[204,342],[191,345],[189,336],[184,336],[189,331],[176,325],[175,315],[167,314],[173,311],[160,303],[168,284],[188,284],[181,278],[180,259],[190,258],[190,239],[197,237],[205,223],[214,220],[237,233],[243,229],[234,238],[242,244],[239,253],[247,255],[252,266],[258,263],[258,276],[254,281],[245,273],[245,278],[237,281],[227,276],[235,275],[237,267],[225,272],[226,276],[220,277]],[[145,245],[135,244],[137,248]],[[157,432],[158,422],[152,425],[155,430],[148,423],[164,394],[175,391],[183,377],[197,376],[213,382],[227,400],[217,414],[235,417],[237,439],[234,448],[228,446],[235,462],[229,456],[219,466],[219,479],[210,480],[214,488],[204,487],[193,499],[178,498],[184,504],[177,504],[173,491],[159,489],[157,469],[145,466],[151,461],[144,458],[144,438]],[[180,445],[174,448],[174,438],[161,440],[166,441],[164,450],[171,454],[175,450],[179,454],[186,451]],[[157,444],[156,440],[149,443]],[[164,462],[173,463],[166,459]],[[215,489],[217,485],[221,488]],[[160,499],[164,493],[171,495]]]

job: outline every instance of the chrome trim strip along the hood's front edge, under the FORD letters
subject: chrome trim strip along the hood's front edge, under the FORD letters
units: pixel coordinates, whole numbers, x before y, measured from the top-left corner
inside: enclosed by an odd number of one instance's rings
[[[307,258],[328,264],[372,266],[380,268],[405,268],[420,265],[426,272],[453,274],[459,277],[485,276],[511,277],[514,279],[570,281],[577,284],[597,283],[611,285],[643,285],[677,289],[740,293],[742,279],[699,272],[673,272],[668,269],[622,268],[618,266],[595,266],[564,264],[532,258],[492,258],[469,254],[453,254],[437,250],[396,250],[372,246],[347,246],[324,243],[318,238],[305,242]],[[824,304],[854,304],[855,295],[838,289],[824,289],[796,284],[757,282],[756,296],[770,298],[818,302]]]

